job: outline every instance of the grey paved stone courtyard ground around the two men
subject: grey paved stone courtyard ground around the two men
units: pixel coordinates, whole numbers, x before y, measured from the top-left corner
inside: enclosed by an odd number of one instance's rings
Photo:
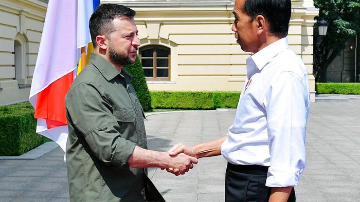
[[[195,145],[219,138],[233,116],[233,109],[148,115],[149,149],[167,151],[180,142]],[[295,188],[297,201],[360,201],[359,122],[358,96],[322,97],[311,104],[308,161]],[[68,201],[64,153],[59,147],[44,148],[45,155],[41,148],[36,151],[40,157],[0,157],[0,201]],[[200,159],[182,176],[154,168],[149,176],[167,201],[216,202],[224,201],[225,169],[226,160],[217,156]]]

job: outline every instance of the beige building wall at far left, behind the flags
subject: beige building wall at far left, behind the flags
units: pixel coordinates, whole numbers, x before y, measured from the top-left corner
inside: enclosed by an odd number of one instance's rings
[[[40,0],[0,0],[0,105],[29,98],[46,7]]]

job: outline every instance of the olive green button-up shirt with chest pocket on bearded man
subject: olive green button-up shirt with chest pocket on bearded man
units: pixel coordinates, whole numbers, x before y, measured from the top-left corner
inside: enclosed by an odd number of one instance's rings
[[[131,79],[92,53],[66,95],[71,201],[145,201],[147,170],[127,163],[135,145],[147,148],[145,116]]]

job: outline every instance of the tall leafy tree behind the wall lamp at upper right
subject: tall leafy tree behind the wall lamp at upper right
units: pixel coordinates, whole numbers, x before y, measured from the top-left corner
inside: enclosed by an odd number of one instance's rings
[[[329,23],[328,32],[319,43],[314,45],[315,82],[327,82],[326,72],[330,63],[345,49],[345,43],[360,32],[359,0],[314,0],[320,12],[318,21],[325,19]],[[315,34],[317,25],[315,24]]]

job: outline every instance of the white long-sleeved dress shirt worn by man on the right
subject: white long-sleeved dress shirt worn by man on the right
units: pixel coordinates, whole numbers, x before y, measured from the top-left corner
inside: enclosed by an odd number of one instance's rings
[[[266,186],[296,186],[305,167],[309,78],[286,38],[246,59],[247,80],[221,146],[231,164],[268,166]]]

